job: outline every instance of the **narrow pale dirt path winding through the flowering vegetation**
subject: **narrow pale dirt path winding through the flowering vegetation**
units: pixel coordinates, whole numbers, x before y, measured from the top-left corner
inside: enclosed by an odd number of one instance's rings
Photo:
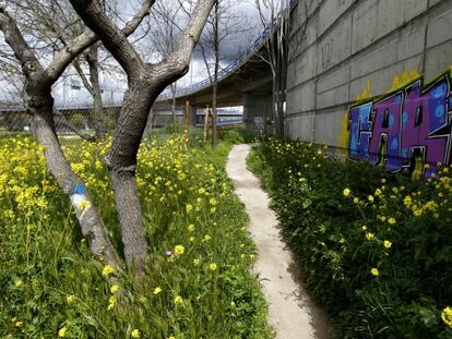
[[[249,231],[259,249],[253,271],[259,275],[269,302],[269,322],[276,330],[276,338],[331,338],[328,316],[305,293],[292,254],[279,239],[269,196],[246,167],[250,148],[250,145],[234,146],[226,171],[251,219]]]

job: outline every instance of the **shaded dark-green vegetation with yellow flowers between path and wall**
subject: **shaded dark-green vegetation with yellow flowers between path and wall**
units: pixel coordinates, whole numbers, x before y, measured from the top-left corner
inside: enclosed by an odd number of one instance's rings
[[[249,167],[337,338],[452,338],[452,175],[413,181],[270,140]]]

